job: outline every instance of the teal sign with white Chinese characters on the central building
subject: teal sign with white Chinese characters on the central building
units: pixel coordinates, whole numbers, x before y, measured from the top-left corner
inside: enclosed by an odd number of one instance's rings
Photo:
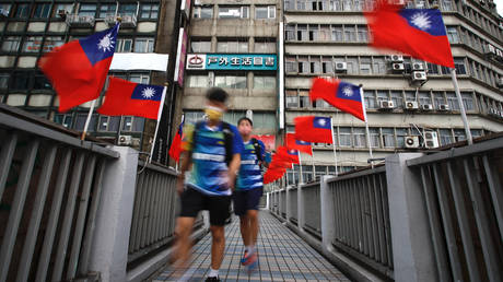
[[[187,70],[277,70],[273,54],[189,54]]]

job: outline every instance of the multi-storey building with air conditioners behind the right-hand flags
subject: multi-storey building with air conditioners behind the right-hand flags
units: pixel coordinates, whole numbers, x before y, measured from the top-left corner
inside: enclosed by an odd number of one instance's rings
[[[312,79],[325,75],[363,84],[376,158],[465,140],[449,70],[369,47],[363,3],[284,1],[286,131],[293,132],[296,116],[332,117],[339,172],[369,165],[364,122],[325,102],[312,104],[308,99]],[[442,11],[473,138],[502,131],[503,20],[495,4],[416,0],[408,7],[437,7]],[[302,155],[304,181],[335,173],[332,146],[314,148],[314,162]],[[289,173],[290,183],[294,177],[299,180],[299,167],[295,168],[295,174]]]

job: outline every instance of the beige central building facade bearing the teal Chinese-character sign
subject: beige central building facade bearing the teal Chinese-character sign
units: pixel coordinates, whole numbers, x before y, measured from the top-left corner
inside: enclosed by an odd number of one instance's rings
[[[225,89],[231,98],[224,120],[236,124],[253,117],[257,134],[278,131],[279,2],[195,1],[189,30],[189,54],[178,118],[202,118],[204,92]]]

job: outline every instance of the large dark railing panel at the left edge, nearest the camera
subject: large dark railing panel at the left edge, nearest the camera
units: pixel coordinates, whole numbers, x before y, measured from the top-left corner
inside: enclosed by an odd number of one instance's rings
[[[89,277],[112,150],[0,106],[0,281]],[[42,122],[44,124],[44,122]]]

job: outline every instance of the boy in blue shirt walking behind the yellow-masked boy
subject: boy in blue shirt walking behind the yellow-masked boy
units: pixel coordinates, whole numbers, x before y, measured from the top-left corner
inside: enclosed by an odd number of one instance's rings
[[[237,121],[237,130],[244,142],[241,168],[237,175],[236,190],[234,191],[234,212],[239,216],[241,235],[245,245],[245,254],[241,260],[243,266],[252,271],[257,266],[258,236],[258,203],[262,196],[264,184],[261,166],[266,165],[265,145],[260,140],[252,138],[254,122],[243,117]]]

